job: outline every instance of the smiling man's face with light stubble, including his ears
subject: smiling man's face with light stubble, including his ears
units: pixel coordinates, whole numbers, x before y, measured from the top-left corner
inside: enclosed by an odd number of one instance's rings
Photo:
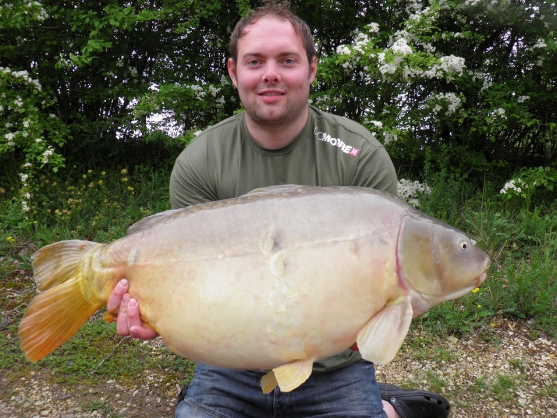
[[[307,112],[317,60],[308,63],[288,20],[265,16],[246,26],[246,32],[238,41],[237,61],[228,60],[246,118],[261,126],[297,121]]]

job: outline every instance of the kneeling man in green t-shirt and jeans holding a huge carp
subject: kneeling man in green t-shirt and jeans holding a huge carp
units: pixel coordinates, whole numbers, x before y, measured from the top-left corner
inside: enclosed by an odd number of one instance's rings
[[[229,199],[269,185],[356,185],[396,194],[386,151],[361,125],[308,106],[317,59],[307,24],[288,4],[267,3],[238,22],[228,74],[245,111],[208,128],[180,154],[170,180],[173,208]],[[149,339],[121,281],[118,334]],[[179,314],[179,313],[177,313]],[[314,364],[292,392],[262,394],[260,371],[198,365],[176,417],[446,417],[441,396],[382,385],[372,364],[347,349]],[[414,408],[412,410],[411,408]],[[397,412],[398,411],[398,412]]]

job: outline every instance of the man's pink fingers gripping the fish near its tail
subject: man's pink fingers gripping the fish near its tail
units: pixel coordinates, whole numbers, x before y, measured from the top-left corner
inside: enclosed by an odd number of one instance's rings
[[[139,316],[139,304],[130,293],[127,293],[128,288],[130,288],[130,283],[127,279],[120,280],[110,294],[107,303],[108,311],[118,309],[118,306],[120,307],[118,310],[118,320],[116,320],[118,335],[130,335],[132,338],[143,340],[154,339],[159,334],[150,328],[143,327],[141,316]]]

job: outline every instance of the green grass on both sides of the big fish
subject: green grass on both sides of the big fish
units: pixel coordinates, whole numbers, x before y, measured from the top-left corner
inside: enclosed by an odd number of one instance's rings
[[[4,187],[0,200],[0,369],[6,375],[23,376],[41,366],[54,371],[60,382],[87,382],[118,378],[132,382],[144,369],[161,369],[181,376],[185,383],[194,364],[179,359],[166,347],[116,335],[97,315],[74,338],[37,364],[29,364],[19,350],[17,325],[26,304],[35,294],[31,254],[39,247],[63,239],[109,242],[125,234],[139,219],[169,208],[169,167],[113,167],[90,170],[74,167],[58,176],[42,177],[35,185],[31,212],[22,213],[17,190]],[[441,176],[441,175],[440,175]],[[453,354],[439,347],[439,339],[480,330],[485,341],[493,318],[527,318],[531,336],[557,336],[557,203],[550,195],[543,205],[530,208],[520,200],[505,201],[489,185],[470,185],[462,179],[437,178],[434,192],[422,196],[421,209],[467,231],[486,249],[492,268],[476,293],[445,302],[414,320],[427,331],[411,341],[415,359],[430,355],[436,362],[450,361]],[[17,178],[8,179],[17,185]],[[519,198],[517,198],[519,199]],[[497,341],[492,341],[496,346]],[[113,352],[114,350],[114,352]],[[519,370],[519,362],[511,363]],[[430,385],[442,386],[435,376]],[[478,380],[471,388],[489,384],[497,396],[512,391],[516,381],[502,376],[496,382]],[[547,393],[554,393],[548,387]],[[102,404],[91,405],[102,410]]]

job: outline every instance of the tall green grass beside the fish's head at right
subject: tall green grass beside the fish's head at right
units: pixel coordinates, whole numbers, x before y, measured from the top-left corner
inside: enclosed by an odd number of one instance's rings
[[[462,334],[494,316],[528,319],[533,334],[557,336],[557,200],[501,196],[501,185],[469,183],[445,172],[428,178],[421,210],[466,231],[492,259],[476,293],[418,320],[439,334]]]

